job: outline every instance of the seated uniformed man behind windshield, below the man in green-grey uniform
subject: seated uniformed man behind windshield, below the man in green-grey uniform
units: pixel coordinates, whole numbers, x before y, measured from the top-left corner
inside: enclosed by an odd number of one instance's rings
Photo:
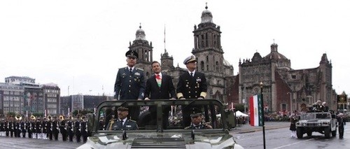
[[[127,119],[127,115],[129,115],[129,108],[125,108],[120,106],[117,109],[118,118],[112,118],[109,120],[109,124],[107,125],[108,130],[137,130],[139,127],[137,126],[137,122],[134,120]]]

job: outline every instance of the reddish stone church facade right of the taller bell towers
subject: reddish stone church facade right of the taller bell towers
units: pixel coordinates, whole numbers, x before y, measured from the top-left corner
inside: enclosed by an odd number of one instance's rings
[[[317,100],[325,101],[336,109],[335,90],[332,89],[332,64],[323,54],[320,65],[313,69],[293,70],[290,59],[278,52],[278,45],[271,45],[271,52],[261,57],[255,52],[252,59],[239,62],[239,103],[253,94],[260,93],[263,83],[264,106],[267,111],[307,111]]]

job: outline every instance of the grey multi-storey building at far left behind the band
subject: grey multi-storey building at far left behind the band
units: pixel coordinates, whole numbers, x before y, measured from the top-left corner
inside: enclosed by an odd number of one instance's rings
[[[60,89],[54,83],[39,85],[27,76],[10,76],[5,82],[0,83],[1,114],[59,113]]]

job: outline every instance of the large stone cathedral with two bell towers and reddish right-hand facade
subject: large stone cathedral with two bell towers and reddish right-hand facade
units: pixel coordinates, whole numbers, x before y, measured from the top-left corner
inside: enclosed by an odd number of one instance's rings
[[[223,58],[220,26],[214,24],[213,15],[205,7],[201,22],[193,28],[192,53],[197,58],[197,71],[207,77],[207,98],[227,103],[245,104],[249,97],[262,94],[265,111],[306,111],[317,100],[325,101],[330,109],[336,108],[335,90],[332,89],[332,64],[323,54],[320,65],[312,69],[293,70],[290,59],[278,52],[278,45],[272,43],[271,52],[262,57],[255,52],[251,59],[239,59],[239,73],[234,76],[233,66]],[[136,38],[130,42],[129,50],[139,53],[137,67],[144,69],[146,79],[152,76],[152,42],[146,40],[141,25]],[[158,61],[158,60],[157,60]],[[174,85],[186,68],[174,66],[174,58],[167,50],[161,54],[162,72],[172,76]]]

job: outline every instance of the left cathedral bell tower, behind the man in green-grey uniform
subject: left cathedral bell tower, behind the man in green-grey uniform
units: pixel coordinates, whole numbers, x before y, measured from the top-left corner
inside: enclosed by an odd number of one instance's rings
[[[141,29],[141,24],[136,31],[136,39],[129,44],[129,50],[135,50],[139,53],[137,67],[144,69],[145,79],[149,78],[152,75],[151,63],[153,62],[153,47],[152,42],[148,43],[146,40],[146,34],[145,31]]]

